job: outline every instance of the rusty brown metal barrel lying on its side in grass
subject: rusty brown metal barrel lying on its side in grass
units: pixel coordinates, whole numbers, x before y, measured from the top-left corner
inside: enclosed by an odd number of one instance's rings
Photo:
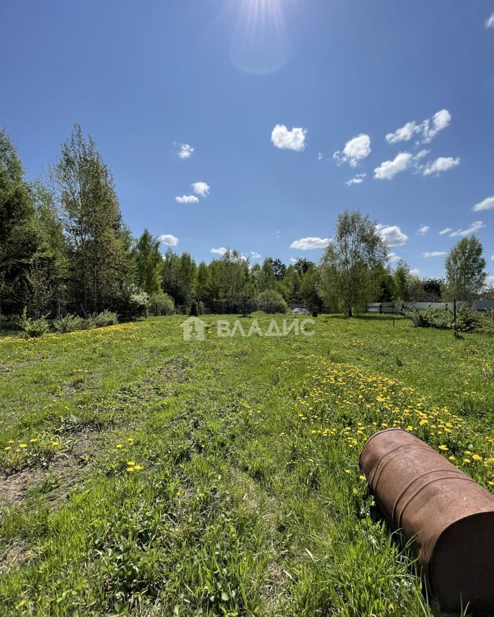
[[[494,495],[398,428],[368,439],[360,466],[443,611],[494,614]]]

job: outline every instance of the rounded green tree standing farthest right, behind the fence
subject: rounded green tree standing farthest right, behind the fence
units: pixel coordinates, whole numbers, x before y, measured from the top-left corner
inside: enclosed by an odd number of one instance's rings
[[[445,260],[447,293],[451,299],[473,300],[485,285],[487,262],[482,243],[475,237],[462,238]]]

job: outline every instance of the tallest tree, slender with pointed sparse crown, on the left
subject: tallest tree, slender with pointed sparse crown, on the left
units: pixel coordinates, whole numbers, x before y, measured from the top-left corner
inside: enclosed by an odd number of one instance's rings
[[[71,293],[86,311],[119,304],[129,283],[130,234],[111,173],[75,124],[55,169],[71,261]]]

